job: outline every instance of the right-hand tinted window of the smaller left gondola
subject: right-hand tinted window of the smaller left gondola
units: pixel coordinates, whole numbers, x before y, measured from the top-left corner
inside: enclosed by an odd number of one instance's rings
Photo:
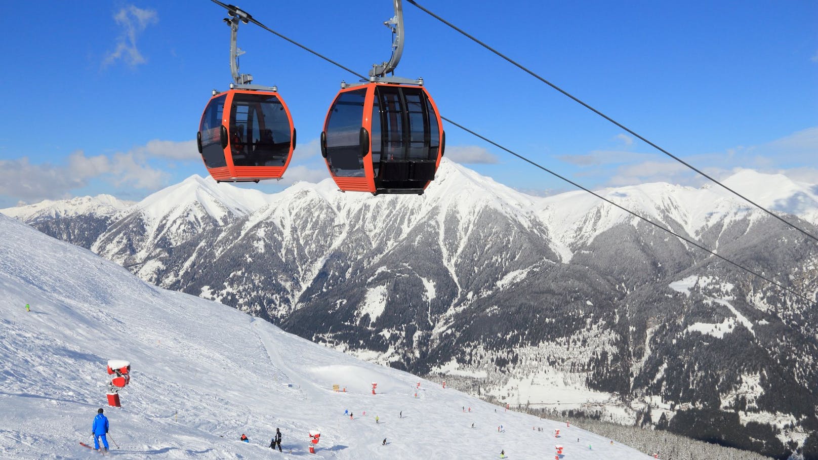
[[[236,93],[229,133],[236,166],[281,166],[290,155],[290,119],[274,94]]]

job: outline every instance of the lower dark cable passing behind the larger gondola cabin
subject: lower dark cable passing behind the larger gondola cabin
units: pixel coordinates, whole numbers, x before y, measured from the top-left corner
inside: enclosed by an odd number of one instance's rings
[[[232,5],[225,5],[224,3],[219,2],[218,0],[210,0],[210,1],[211,1],[211,2],[214,2],[214,3],[218,3],[218,5],[221,5],[222,7],[225,7],[225,8],[227,8],[227,9],[228,9],[228,10],[230,10],[230,11],[240,11],[242,14],[244,14],[245,16],[247,16],[247,19],[248,19],[248,20],[250,20],[250,21],[252,21],[252,22],[253,22],[255,25],[258,25],[259,27],[262,27],[263,29],[265,29],[265,30],[267,30],[267,31],[271,32],[272,34],[276,34],[276,36],[278,36],[278,37],[284,38],[286,41],[288,41],[288,42],[290,42],[290,43],[293,43],[294,45],[296,45],[296,46],[298,46],[298,47],[300,47],[300,48],[303,48],[303,50],[305,50],[305,51],[307,51],[307,52],[310,52],[310,53],[312,53],[313,55],[318,56],[318,57],[320,57],[321,59],[323,59],[323,60],[325,60],[325,61],[327,61],[327,62],[330,62],[331,64],[337,65],[337,66],[338,66],[338,67],[340,67],[341,69],[347,70],[347,71],[348,71],[349,73],[351,73],[351,74],[357,75],[358,77],[360,77],[360,78],[362,78],[362,79],[366,79],[366,77],[364,77],[362,74],[358,74],[357,72],[355,72],[355,71],[353,71],[353,70],[349,70],[349,69],[348,69],[347,67],[345,67],[344,65],[341,65],[341,64],[339,64],[338,62],[333,61],[333,60],[331,60],[330,58],[328,58],[328,57],[326,57],[326,56],[323,56],[323,55],[321,55],[321,54],[320,54],[320,53],[318,53],[318,52],[312,51],[312,50],[311,50],[311,49],[309,49],[308,47],[305,47],[305,46],[303,46],[302,44],[300,44],[300,43],[298,43],[298,42],[295,42],[294,40],[292,40],[292,39],[290,39],[290,38],[287,38],[287,37],[285,37],[284,35],[279,34],[279,33],[278,33],[278,32],[276,32],[275,30],[272,30],[272,29],[268,28],[266,25],[263,25],[263,24],[261,24],[260,22],[258,22],[258,20],[254,20],[254,19],[253,19],[253,17],[252,17],[252,16],[250,16],[249,14],[247,14],[245,11],[241,11],[240,9],[238,9],[237,7],[233,7]],[[407,1],[411,1],[411,0],[407,0]],[[634,211],[628,210],[628,209],[627,209],[627,208],[625,208],[624,206],[622,206],[622,205],[618,205],[617,203],[614,203],[613,201],[610,201],[608,198],[605,198],[605,196],[601,196],[600,194],[598,194],[598,193],[596,193],[596,192],[591,191],[591,189],[589,189],[589,188],[587,188],[587,187],[583,187],[582,185],[580,185],[580,184],[578,184],[578,183],[573,182],[571,179],[569,179],[569,178],[565,178],[564,176],[562,176],[562,175],[560,175],[560,174],[558,174],[558,173],[555,173],[554,171],[551,171],[551,169],[547,169],[545,166],[539,165],[539,164],[537,164],[536,162],[534,162],[533,160],[529,160],[529,159],[528,159],[528,158],[526,158],[525,156],[519,155],[519,154],[518,154],[518,153],[516,153],[515,151],[511,151],[510,149],[508,149],[508,148],[506,148],[506,147],[501,146],[501,145],[500,145],[500,144],[498,144],[497,142],[494,142],[494,141],[492,141],[491,139],[486,138],[486,137],[484,137],[483,135],[481,135],[481,134],[479,134],[479,133],[476,133],[476,132],[472,131],[471,129],[466,128],[466,127],[465,127],[465,126],[463,126],[462,124],[458,124],[458,123],[456,123],[455,121],[452,121],[452,120],[450,120],[450,119],[448,119],[448,118],[446,118],[446,117],[444,117],[444,116],[441,116],[440,118],[441,118],[441,119],[443,119],[443,120],[446,120],[448,123],[453,124],[453,125],[454,125],[454,126],[456,126],[457,128],[460,128],[460,129],[464,130],[466,133],[470,133],[470,134],[472,134],[473,136],[475,136],[475,137],[477,137],[477,138],[483,139],[483,141],[488,142],[488,143],[492,144],[493,146],[495,146],[495,147],[497,147],[497,148],[500,148],[501,150],[507,151],[508,153],[510,153],[510,154],[511,154],[511,155],[513,155],[513,156],[516,156],[516,157],[517,157],[517,158],[519,158],[520,160],[524,160],[526,163],[528,163],[528,164],[530,164],[530,165],[533,165],[534,167],[536,167],[536,168],[538,168],[538,169],[542,169],[542,170],[543,170],[543,171],[545,171],[546,173],[551,174],[551,175],[555,176],[556,178],[560,178],[560,179],[564,180],[565,182],[570,183],[570,184],[571,184],[571,185],[573,185],[574,187],[578,187],[579,189],[582,189],[583,191],[588,192],[588,193],[590,193],[590,194],[591,194],[591,195],[593,195],[593,196],[596,196],[596,197],[597,197],[597,198],[599,198],[600,200],[605,201],[605,202],[607,202],[607,203],[609,203],[609,204],[611,204],[611,205],[614,205],[614,206],[618,207],[620,210],[623,210],[623,211],[627,212],[628,214],[633,215],[634,217],[636,217],[636,218],[638,218],[638,219],[644,220],[646,223],[649,223],[649,224],[653,225],[653,226],[654,226],[654,227],[656,227],[656,228],[659,228],[659,229],[661,229],[661,230],[663,230],[663,231],[665,231],[665,232],[668,232],[668,233],[672,234],[674,237],[677,237],[677,238],[679,238],[679,239],[681,239],[681,240],[683,240],[683,241],[686,241],[686,242],[690,243],[691,245],[693,245],[693,246],[695,246],[695,247],[699,248],[700,250],[703,250],[703,251],[705,251],[705,252],[708,252],[708,253],[709,253],[709,254],[711,254],[711,255],[715,255],[715,256],[716,256],[718,259],[724,260],[724,261],[725,261],[725,262],[727,262],[728,264],[734,265],[735,267],[740,268],[740,269],[744,270],[745,272],[747,272],[747,273],[749,273],[749,274],[751,274],[751,275],[753,275],[753,276],[755,276],[755,277],[759,277],[759,278],[761,278],[762,280],[764,280],[764,281],[766,281],[766,282],[770,283],[770,284],[771,284],[771,285],[773,285],[773,286],[778,286],[778,287],[779,287],[779,288],[780,288],[782,291],[785,291],[785,292],[788,292],[789,294],[795,295],[795,296],[797,296],[798,298],[800,298],[800,299],[802,299],[802,300],[806,300],[806,301],[807,301],[807,303],[810,303],[810,304],[813,304],[813,305],[818,306],[818,303],[816,303],[816,301],[815,301],[815,300],[811,300],[811,299],[809,299],[808,297],[806,297],[806,296],[804,296],[804,295],[802,295],[802,294],[798,293],[797,291],[793,291],[792,289],[789,289],[789,287],[783,286],[783,285],[781,285],[780,283],[775,282],[775,281],[771,280],[771,279],[770,279],[770,278],[768,278],[768,277],[765,277],[765,276],[764,276],[764,275],[762,275],[761,273],[754,272],[752,269],[744,267],[744,265],[741,265],[741,264],[738,264],[738,263],[736,263],[736,262],[733,262],[732,260],[727,259],[726,257],[724,257],[724,256],[722,256],[722,255],[718,255],[717,253],[713,252],[712,250],[709,250],[708,248],[706,248],[706,247],[704,247],[704,246],[700,245],[699,243],[697,243],[697,242],[695,242],[695,241],[692,241],[692,240],[690,240],[690,239],[688,239],[688,238],[686,238],[686,237],[683,237],[683,236],[681,236],[680,234],[678,234],[678,233],[676,233],[676,232],[673,232],[673,231],[672,231],[670,228],[665,228],[665,227],[663,227],[662,225],[660,225],[660,224],[658,224],[658,223],[655,223],[653,220],[650,220],[650,219],[648,219],[648,218],[646,218],[646,217],[643,217],[642,215],[637,214],[637,213],[636,213],[636,212],[634,212]]]

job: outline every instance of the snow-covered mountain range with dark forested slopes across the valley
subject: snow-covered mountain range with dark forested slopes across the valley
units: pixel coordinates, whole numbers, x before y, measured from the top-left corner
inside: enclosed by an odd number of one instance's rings
[[[726,183],[818,233],[814,185],[747,170]],[[450,161],[423,196],[340,193],[329,179],[246,192],[188,178],[73,242],[504,403],[779,458],[818,431],[814,306],[584,192],[526,196]],[[816,298],[818,246],[721,187],[601,193]]]

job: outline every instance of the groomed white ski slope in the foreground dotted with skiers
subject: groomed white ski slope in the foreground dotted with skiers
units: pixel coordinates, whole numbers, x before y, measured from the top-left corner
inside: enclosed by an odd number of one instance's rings
[[[150,286],[2,215],[0,235],[0,458],[97,458],[79,445],[97,408],[115,458],[650,458]],[[109,359],[132,365],[122,408],[106,406]]]

